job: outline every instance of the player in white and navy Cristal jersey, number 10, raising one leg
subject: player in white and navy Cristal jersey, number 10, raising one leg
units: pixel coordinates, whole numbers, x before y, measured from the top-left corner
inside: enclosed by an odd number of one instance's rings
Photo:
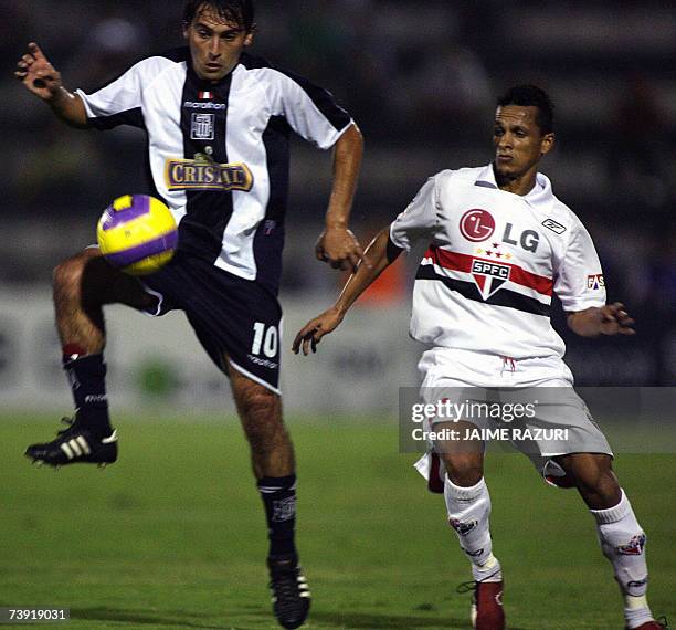
[[[252,0],[188,0],[187,46],[147,57],[89,95],[66,90],[35,43],[19,62],[17,77],[66,124],[145,129],[151,192],[179,223],[177,255],[142,283],[108,265],[97,248],[56,267],[56,325],[76,414],[56,440],[29,447],[27,455],[51,465],[114,462],[102,307],[184,311],[230,377],[265,507],[273,609],[282,626],[297,628],[310,599],[295,546],[295,461],[282,420],[276,297],[288,141],[293,130],[319,148],[335,147],[326,229],[316,244],[317,258],[335,269],[355,267],[363,253],[347,228],[363,141],[328,92],[249,54],[254,33]]]

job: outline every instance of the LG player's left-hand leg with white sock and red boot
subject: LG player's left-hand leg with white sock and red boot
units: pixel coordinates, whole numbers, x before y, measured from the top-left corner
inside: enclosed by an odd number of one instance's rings
[[[469,422],[440,422],[435,430],[454,430],[464,435],[474,429]],[[472,622],[478,630],[505,628],[503,610],[503,573],[493,555],[489,516],[490,495],[484,481],[484,442],[480,440],[448,440],[435,443],[446,468],[444,498],[448,524],[455,529],[463,552],[472,563],[474,580],[461,585],[474,590]]]

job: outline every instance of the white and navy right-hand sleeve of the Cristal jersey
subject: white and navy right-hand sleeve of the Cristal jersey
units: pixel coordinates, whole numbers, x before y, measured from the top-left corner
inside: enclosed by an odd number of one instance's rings
[[[273,109],[307,141],[328,149],[352,124],[330,92],[289,72],[270,69],[267,74]]]

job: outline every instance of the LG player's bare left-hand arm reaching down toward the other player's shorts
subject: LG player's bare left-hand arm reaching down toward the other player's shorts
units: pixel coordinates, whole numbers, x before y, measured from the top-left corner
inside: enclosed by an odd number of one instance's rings
[[[316,353],[321,337],[332,333],[340,325],[355,301],[398,259],[402,251],[390,241],[389,228],[380,231],[367,248],[362,263],[347,281],[336,304],[300,328],[292,346],[294,353],[298,354],[300,348],[304,355],[308,355],[310,348]]]

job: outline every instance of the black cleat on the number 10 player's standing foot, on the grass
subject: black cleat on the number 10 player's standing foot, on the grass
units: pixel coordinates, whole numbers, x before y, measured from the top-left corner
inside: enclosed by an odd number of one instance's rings
[[[283,628],[299,628],[307,619],[310,591],[295,555],[267,558],[273,612]]]

